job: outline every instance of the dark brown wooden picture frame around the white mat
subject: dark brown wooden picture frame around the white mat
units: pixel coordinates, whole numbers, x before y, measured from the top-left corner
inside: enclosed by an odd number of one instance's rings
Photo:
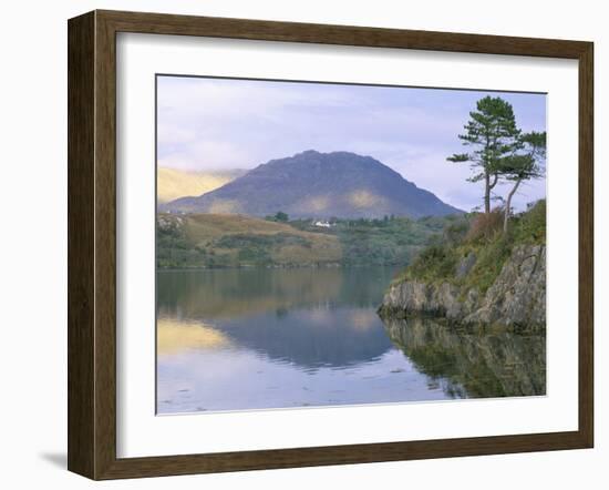
[[[593,44],[448,32],[93,11],[69,21],[68,468],[92,479],[591,448]],[[116,457],[116,33],[203,35],[579,62],[579,428],[444,440]]]

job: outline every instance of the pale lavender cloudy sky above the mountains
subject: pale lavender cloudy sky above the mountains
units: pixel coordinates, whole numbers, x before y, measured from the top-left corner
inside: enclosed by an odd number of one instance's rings
[[[502,96],[516,123],[546,131],[544,94],[210,78],[157,78],[158,166],[254,169],[306,150],[370,155],[464,211],[482,204],[468,183],[458,134],[476,101]],[[497,185],[499,195],[507,184]],[[520,185],[514,206],[545,197],[545,180]]]

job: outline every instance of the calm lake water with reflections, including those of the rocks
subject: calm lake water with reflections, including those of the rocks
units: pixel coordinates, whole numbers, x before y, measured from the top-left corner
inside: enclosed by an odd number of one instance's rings
[[[157,273],[157,412],[545,394],[545,336],[385,320],[391,268]]]

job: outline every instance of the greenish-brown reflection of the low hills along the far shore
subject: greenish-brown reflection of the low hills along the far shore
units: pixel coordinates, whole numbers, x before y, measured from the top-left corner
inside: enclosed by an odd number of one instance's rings
[[[234,319],[297,307],[376,308],[394,270],[374,268],[210,269],[157,274],[161,316]]]

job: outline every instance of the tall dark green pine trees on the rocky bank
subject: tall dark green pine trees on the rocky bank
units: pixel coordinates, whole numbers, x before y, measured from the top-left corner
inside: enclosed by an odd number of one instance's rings
[[[465,133],[458,139],[471,147],[455,153],[450,162],[469,162],[474,175],[468,182],[484,183],[484,213],[491,213],[493,190],[504,181],[510,184],[504,206],[504,232],[507,232],[512,200],[523,182],[545,174],[546,132],[523,132],[516,124],[510,103],[496,96],[485,96],[469,112]]]

